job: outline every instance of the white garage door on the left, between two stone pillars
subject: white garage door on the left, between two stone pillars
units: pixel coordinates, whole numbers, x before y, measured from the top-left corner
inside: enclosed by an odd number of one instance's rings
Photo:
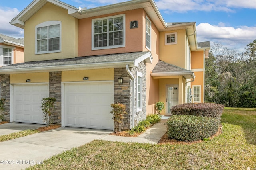
[[[42,98],[49,97],[48,84],[14,85],[14,121],[23,123],[43,122]]]

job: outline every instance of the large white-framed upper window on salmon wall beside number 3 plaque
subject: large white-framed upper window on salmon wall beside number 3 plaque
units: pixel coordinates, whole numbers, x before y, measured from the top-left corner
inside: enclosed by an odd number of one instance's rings
[[[125,47],[125,14],[92,20],[92,50]]]

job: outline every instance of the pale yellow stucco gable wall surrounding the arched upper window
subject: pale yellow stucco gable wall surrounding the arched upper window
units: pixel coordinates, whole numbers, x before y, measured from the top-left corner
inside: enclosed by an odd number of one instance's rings
[[[46,21],[61,21],[61,52],[35,54],[36,25]],[[74,58],[78,55],[78,19],[68,15],[68,10],[46,3],[25,23],[24,61]]]

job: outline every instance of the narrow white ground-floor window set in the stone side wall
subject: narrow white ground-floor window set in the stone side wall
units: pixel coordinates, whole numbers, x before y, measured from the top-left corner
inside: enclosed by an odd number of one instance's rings
[[[142,111],[142,73],[137,72],[137,112]]]

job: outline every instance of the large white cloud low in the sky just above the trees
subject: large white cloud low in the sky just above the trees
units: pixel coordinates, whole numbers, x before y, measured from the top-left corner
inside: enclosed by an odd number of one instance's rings
[[[224,46],[238,49],[240,52],[256,38],[256,27],[239,26],[234,28],[224,26],[224,23],[218,25],[200,23],[196,29],[198,42],[220,42]]]

